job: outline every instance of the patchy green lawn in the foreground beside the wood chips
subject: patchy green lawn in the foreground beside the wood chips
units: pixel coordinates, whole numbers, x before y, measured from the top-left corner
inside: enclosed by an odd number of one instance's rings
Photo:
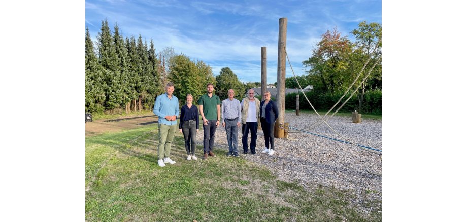
[[[351,192],[307,192],[244,158],[186,161],[183,135],[171,158],[157,165],[157,125],[86,137],[85,214],[88,221],[381,221],[381,202],[369,215],[348,201]],[[379,211],[379,212],[378,212]]]

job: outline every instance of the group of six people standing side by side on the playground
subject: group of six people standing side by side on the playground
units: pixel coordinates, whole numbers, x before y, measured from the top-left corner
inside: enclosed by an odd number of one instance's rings
[[[239,157],[238,153],[238,129],[242,124],[242,145],[243,154],[248,153],[248,134],[251,133],[250,151],[256,154],[256,139],[258,122],[264,132],[265,147],[261,153],[274,154],[274,123],[279,115],[277,104],[271,100],[271,93],[265,91],[263,101],[254,97],[254,90],[248,91],[248,97],[242,102],[235,99],[233,89],[228,90],[228,98],[222,101],[214,95],[214,85],[207,85],[207,93],[198,100],[199,112],[196,105],[193,105],[193,96],[186,95],[186,104],[179,109],[178,98],[173,95],[175,88],[173,83],[167,83],[165,93],[157,96],[154,103],[153,113],[159,117],[159,145],[157,149],[158,165],[165,166],[165,163],[175,164],[170,159],[170,149],[177,131],[177,116],[180,114],[179,131],[185,138],[185,149],[187,160],[197,160],[196,134],[199,131],[199,114],[203,121],[203,157],[215,157],[212,152],[216,129],[222,122],[227,134],[228,156]],[[222,113],[222,115],[221,115]],[[222,117],[222,119],[221,119]]]

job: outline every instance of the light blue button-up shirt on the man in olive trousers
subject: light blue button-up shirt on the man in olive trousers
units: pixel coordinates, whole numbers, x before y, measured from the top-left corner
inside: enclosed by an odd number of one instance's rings
[[[178,107],[178,98],[172,94],[169,99],[167,93],[157,96],[152,112],[159,117],[159,123],[165,125],[176,125],[177,120],[168,121],[165,116],[178,116],[180,109]]]

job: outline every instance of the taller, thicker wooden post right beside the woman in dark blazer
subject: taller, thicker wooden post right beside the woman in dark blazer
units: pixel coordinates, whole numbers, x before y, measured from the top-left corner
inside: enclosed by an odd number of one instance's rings
[[[287,43],[287,18],[279,19],[279,44],[277,52],[277,94],[276,102],[279,109],[279,117],[276,120],[276,138],[285,138],[284,129],[280,124],[285,122],[285,49]],[[282,46],[284,45],[284,46]]]

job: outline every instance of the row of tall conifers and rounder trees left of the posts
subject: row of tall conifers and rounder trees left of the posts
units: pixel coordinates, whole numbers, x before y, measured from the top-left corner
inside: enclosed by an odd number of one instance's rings
[[[123,38],[115,24],[113,31],[107,20],[102,21],[95,43],[86,28],[86,112],[129,113],[131,110],[151,110],[157,95],[168,82],[175,85],[174,95],[184,104],[186,94],[197,100],[212,83],[220,98],[227,98],[234,89],[238,98],[252,83],[242,83],[229,67],[223,67],[214,77],[212,67],[202,60],[194,61],[173,48],[159,53],[151,39],[149,46],[141,34]]]

